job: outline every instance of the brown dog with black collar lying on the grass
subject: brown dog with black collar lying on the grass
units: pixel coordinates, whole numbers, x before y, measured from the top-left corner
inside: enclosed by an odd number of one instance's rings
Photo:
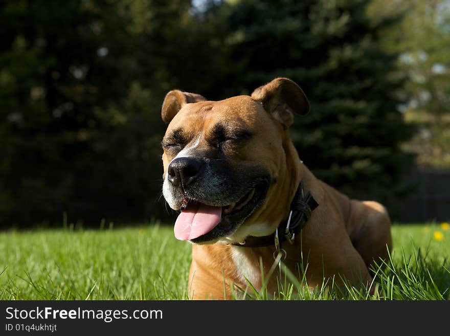
[[[387,256],[392,242],[385,208],[349,199],[300,161],[288,128],[294,114],[308,111],[302,89],[286,78],[252,96],[221,101],[177,90],[167,94],[163,194],[172,209],[182,210],[176,238],[194,243],[194,299],[231,298],[233,286],[245,288],[246,279],[261,288],[260,260],[267,274],[277,251],[294,274],[308,263],[310,287],[333,276],[338,284],[367,284],[368,266]],[[296,219],[287,225],[289,217]],[[269,294],[276,293],[274,274]]]

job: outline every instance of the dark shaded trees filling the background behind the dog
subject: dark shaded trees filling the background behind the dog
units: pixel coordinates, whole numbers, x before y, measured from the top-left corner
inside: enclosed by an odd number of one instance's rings
[[[168,218],[160,118],[173,88],[210,99],[297,81],[308,167],[389,200],[409,163],[395,55],[365,2],[6,0],[0,4],[0,226]],[[380,24],[383,25],[383,24]],[[390,203],[392,204],[392,203]]]

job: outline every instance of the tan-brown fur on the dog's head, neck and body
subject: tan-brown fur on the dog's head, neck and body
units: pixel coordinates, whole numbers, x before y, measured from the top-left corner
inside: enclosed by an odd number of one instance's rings
[[[276,79],[256,89],[252,97],[237,96],[214,102],[195,95],[189,96],[196,98],[194,101],[191,98],[189,103],[183,98],[188,94],[172,91],[166,97],[163,118],[170,122],[168,130],[183,128],[190,142],[201,134],[196,148],[201,155],[210,155],[209,130],[218,121],[226,123],[231,129],[243,125],[250,127],[252,138],[244,145],[236,144],[228,148],[227,159],[243,170],[250,169],[255,163],[264,165],[277,177],[277,183],[269,188],[264,205],[241,228],[259,225],[265,234],[273,233],[279,223],[287,218],[290,201],[302,180],[305,190],[313,194],[319,207],[313,211],[302,230],[301,239],[298,237],[293,245],[283,244],[287,252],[285,264],[294,274],[298,274],[303,255],[304,266],[308,263],[306,279],[310,287],[320,285],[324,279],[333,276],[337,285],[342,284],[341,277],[354,285],[361,284],[361,280],[367,284],[372,279],[368,266],[373,260],[385,258],[386,246],[391,248],[392,245],[389,216],[386,209],[374,201],[350,200],[314,177],[300,162],[287,128],[292,122],[292,112],[307,113],[309,103],[303,92],[292,83],[287,79]],[[165,171],[173,157],[173,154],[164,152]],[[256,275],[260,274],[260,260],[264,274],[274,262],[275,247],[194,244],[189,274],[192,298],[231,298],[233,286],[246,287],[233,251],[239,251],[248,265],[247,271],[250,268],[250,272]],[[259,288],[262,279],[256,279],[253,285]],[[269,293],[276,292],[275,276],[267,288]]]

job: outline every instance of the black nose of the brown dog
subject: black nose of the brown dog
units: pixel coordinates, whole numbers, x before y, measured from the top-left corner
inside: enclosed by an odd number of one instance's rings
[[[175,187],[180,184],[186,188],[201,174],[204,162],[194,158],[178,158],[173,160],[167,170],[169,182]]]

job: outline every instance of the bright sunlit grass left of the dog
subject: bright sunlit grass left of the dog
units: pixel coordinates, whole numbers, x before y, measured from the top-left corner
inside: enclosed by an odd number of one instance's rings
[[[0,234],[0,299],[184,299],[190,246],[166,227]]]

